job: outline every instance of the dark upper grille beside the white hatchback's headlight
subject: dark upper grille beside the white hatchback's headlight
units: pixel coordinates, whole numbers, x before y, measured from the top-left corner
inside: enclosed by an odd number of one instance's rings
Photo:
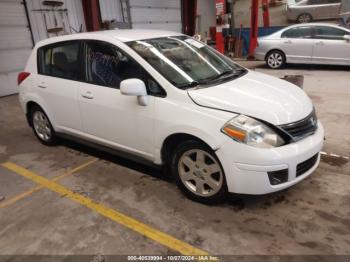
[[[281,125],[279,127],[288,133],[294,141],[298,141],[304,137],[312,135],[317,130],[317,117],[315,110],[300,121]]]

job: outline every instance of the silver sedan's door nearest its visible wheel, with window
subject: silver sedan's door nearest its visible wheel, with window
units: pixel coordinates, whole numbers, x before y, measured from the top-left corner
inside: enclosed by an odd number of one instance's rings
[[[283,32],[281,35],[281,49],[286,54],[287,62],[310,62],[314,41],[311,27],[308,25],[294,27]]]

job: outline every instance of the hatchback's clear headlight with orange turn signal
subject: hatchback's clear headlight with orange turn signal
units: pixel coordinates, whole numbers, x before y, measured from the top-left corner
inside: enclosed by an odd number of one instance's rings
[[[250,146],[271,148],[285,144],[274,130],[254,118],[239,115],[228,121],[221,131],[232,139]]]

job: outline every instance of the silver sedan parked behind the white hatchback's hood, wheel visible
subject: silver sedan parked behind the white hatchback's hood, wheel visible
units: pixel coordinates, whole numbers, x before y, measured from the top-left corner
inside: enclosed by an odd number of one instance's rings
[[[350,65],[350,30],[326,23],[292,25],[259,38],[255,58],[273,69],[286,63]]]

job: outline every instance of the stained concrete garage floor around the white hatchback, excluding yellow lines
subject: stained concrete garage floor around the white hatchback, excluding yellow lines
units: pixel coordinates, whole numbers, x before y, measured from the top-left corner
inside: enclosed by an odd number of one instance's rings
[[[260,62],[240,63],[276,76],[305,75],[304,89],[326,129],[324,151],[350,155],[349,68],[272,71]],[[345,158],[323,157],[311,177],[286,191],[231,195],[225,204],[205,206],[187,200],[157,169],[71,142],[41,145],[17,96],[0,99],[0,126],[0,163],[11,161],[51,179],[97,157],[59,183],[210,254],[350,255],[350,163]],[[0,167],[4,201],[35,186]],[[0,254],[178,253],[43,189],[0,208]]]

